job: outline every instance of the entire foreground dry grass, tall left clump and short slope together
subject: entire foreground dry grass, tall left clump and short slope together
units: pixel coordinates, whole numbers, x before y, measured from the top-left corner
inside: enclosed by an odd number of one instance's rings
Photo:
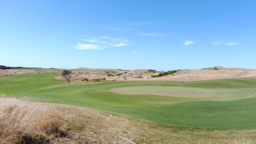
[[[0,98],[0,144],[116,144],[117,135],[136,144],[254,144],[255,132],[179,128],[77,106]]]

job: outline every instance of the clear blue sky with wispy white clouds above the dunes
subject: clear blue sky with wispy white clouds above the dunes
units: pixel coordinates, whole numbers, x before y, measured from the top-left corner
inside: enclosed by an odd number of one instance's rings
[[[255,0],[0,0],[0,65],[256,68]]]

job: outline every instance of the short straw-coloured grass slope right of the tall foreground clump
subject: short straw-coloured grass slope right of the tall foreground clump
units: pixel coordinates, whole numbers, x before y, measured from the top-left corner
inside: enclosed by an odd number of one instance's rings
[[[52,104],[50,104],[52,105]],[[54,104],[73,114],[76,127],[70,139],[76,144],[116,144],[117,135],[136,144],[255,144],[256,129],[211,130],[179,128],[131,120],[77,106]],[[118,144],[128,144],[119,138]]]

